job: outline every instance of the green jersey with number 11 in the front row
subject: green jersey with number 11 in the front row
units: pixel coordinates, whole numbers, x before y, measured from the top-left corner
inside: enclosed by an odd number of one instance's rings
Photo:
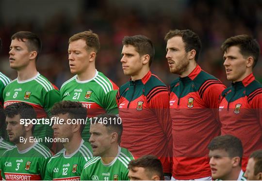
[[[82,170],[81,181],[128,181],[128,164],[133,155],[126,148],[118,147],[118,153],[110,164],[101,157],[93,157]]]

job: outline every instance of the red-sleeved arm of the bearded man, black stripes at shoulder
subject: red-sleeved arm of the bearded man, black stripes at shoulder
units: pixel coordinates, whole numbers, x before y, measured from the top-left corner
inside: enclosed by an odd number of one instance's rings
[[[214,118],[219,122],[219,97],[226,86],[219,80],[208,80],[204,82],[198,90],[199,96],[204,100],[207,108],[212,109]]]

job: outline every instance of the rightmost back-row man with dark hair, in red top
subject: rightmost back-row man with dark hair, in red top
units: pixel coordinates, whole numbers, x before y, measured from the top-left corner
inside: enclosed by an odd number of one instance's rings
[[[252,73],[260,46],[248,35],[228,38],[221,46],[227,79],[232,86],[223,91],[219,103],[221,134],[238,137],[244,148],[242,169],[247,158],[262,149],[262,84]]]

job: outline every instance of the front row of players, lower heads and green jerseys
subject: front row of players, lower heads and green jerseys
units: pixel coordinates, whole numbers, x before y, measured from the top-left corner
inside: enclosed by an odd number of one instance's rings
[[[54,105],[51,113],[64,120],[82,119],[86,110],[79,102],[62,101]],[[0,168],[5,180],[164,180],[163,167],[157,157],[149,155],[133,160],[127,149],[119,147],[122,124],[92,124],[90,144],[82,140],[83,124],[73,125],[66,121],[54,124],[55,137],[69,138],[69,142],[65,142],[65,148],[50,158],[47,147],[37,142],[19,141],[19,137],[29,140],[33,136],[33,124],[20,124],[21,118],[36,118],[32,106],[15,103],[7,106],[5,115],[1,111],[0,117],[6,120],[9,139],[15,144],[12,146],[0,140]],[[110,114],[98,117],[116,118]],[[262,150],[250,155],[244,175],[240,139],[232,135],[217,136],[209,143],[208,149],[213,179],[262,180]]]

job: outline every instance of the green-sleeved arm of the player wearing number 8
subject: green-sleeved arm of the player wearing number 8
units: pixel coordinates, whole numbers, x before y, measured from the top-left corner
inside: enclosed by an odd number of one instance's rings
[[[43,107],[47,113],[47,115],[50,117],[51,113],[50,110],[53,107],[54,103],[60,102],[60,93],[59,90],[54,86],[54,89],[49,90],[48,92],[46,90],[42,90],[42,98],[43,98]]]

